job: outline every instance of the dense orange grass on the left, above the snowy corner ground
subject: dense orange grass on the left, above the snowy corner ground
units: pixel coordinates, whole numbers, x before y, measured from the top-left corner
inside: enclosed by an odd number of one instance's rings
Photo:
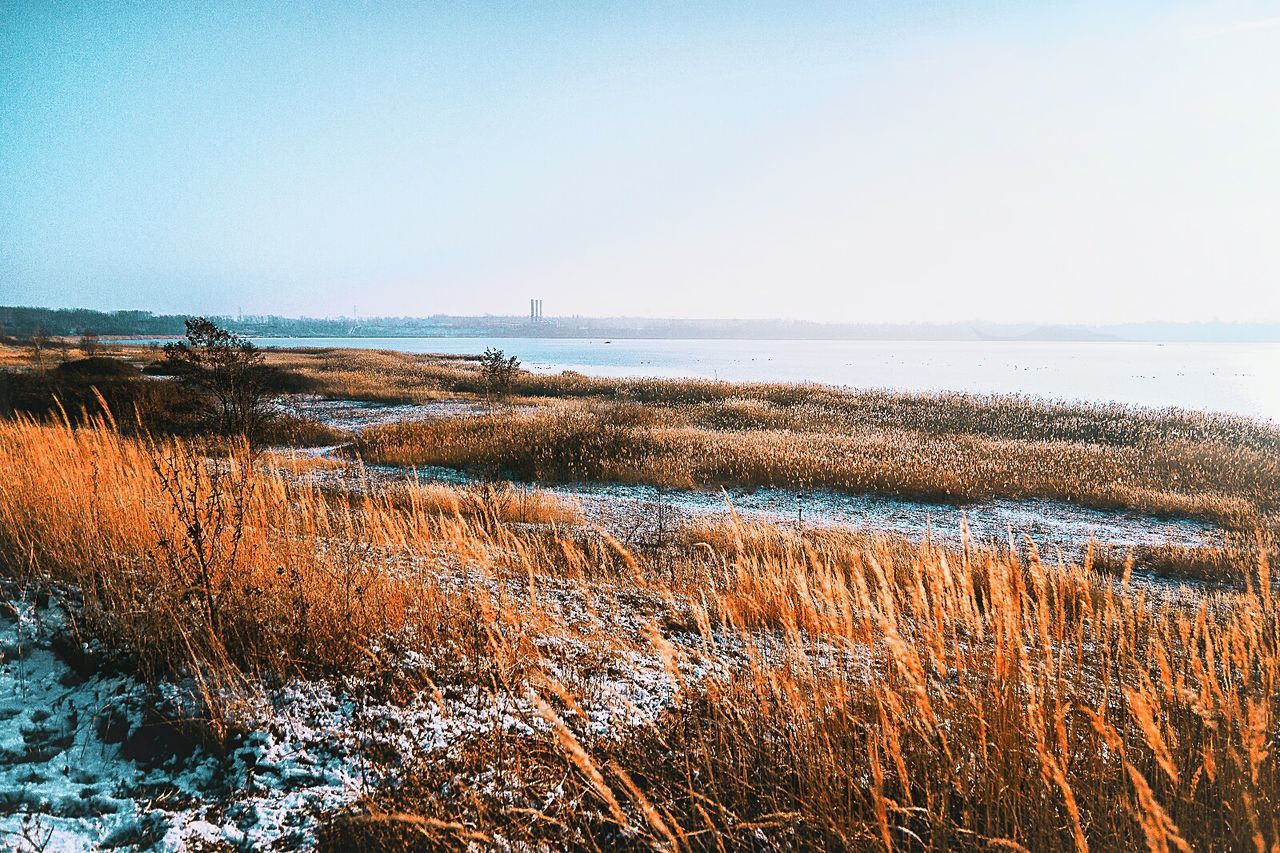
[[[78,590],[86,634],[148,678],[197,678],[215,721],[246,678],[364,671],[376,642],[431,646],[470,624],[470,593],[442,594],[411,556],[475,562],[500,546],[393,494],[324,493],[282,470],[311,461],[243,444],[19,419],[0,423],[0,465],[3,570]]]

